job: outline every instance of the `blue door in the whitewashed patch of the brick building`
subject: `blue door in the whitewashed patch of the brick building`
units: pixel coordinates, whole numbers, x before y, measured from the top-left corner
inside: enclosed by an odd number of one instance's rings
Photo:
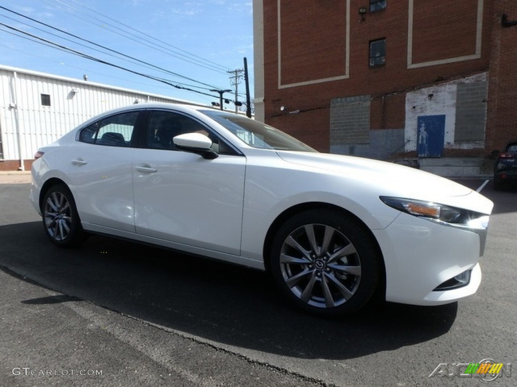
[[[445,115],[418,116],[418,157],[442,157],[445,139]]]

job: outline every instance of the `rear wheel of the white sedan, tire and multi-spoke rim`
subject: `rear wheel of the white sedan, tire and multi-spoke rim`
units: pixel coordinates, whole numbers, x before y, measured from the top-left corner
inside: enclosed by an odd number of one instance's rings
[[[84,240],[81,220],[67,186],[52,186],[41,204],[45,234],[59,247],[73,247]]]

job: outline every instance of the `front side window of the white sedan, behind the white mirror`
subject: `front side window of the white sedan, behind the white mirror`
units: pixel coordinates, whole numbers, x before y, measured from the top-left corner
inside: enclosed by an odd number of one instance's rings
[[[201,123],[171,111],[153,111],[147,129],[146,148],[176,150],[172,139],[184,133],[201,133],[218,142],[217,137],[210,136]]]

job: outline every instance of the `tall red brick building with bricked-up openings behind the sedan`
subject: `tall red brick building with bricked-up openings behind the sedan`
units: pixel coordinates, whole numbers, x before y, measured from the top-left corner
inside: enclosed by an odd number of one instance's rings
[[[321,151],[484,157],[517,138],[514,0],[254,0],[255,117]]]

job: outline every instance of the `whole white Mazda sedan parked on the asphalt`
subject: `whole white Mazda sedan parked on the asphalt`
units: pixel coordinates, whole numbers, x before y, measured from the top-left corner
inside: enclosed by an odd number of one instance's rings
[[[288,301],[321,315],[377,292],[416,305],[474,294],[493,207],[433,174],[171,104],[90,119],[38,151],[32,178],[58,246],[98,233],[267,270]]]

